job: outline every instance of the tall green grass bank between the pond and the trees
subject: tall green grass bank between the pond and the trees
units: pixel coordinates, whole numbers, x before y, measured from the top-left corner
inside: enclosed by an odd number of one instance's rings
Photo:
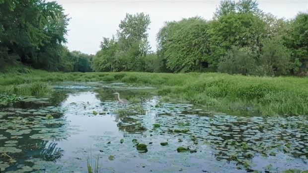
[[[164,98],[187,100],[211,110],[258,115],[308,115],[308,78],[244,77],[218,73],[49,73],[25,70],[0,74],[0,90],[21,95],[49,93],[50,82],[117,81],[157,86]]]

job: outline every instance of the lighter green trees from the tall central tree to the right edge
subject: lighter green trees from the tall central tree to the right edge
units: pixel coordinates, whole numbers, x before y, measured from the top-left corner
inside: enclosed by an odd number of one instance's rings
[[[212,20],[195,16],[165,21],[157,33],[156,53],[145,49],[149,24],[149,15],[127,14],[117,37],[103,39],[94,70],[258,76],[307,71],[307,12],[286,20],[262,12],[254,0],[225,0]]]

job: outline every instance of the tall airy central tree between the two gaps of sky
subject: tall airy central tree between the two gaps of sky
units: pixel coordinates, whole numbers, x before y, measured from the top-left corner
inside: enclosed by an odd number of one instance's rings
[[[93,58],[95,71],[144,71],[145,57],[151,53],[148,41],[149,15],[128,14],[117,30],[116,37],[103,38],[101,50]]]

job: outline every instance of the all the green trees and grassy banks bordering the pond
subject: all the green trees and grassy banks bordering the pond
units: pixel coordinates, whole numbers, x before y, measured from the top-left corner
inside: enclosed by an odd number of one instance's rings
[[[0,11],[4,104],[20,95],[52,96],[53,82],[115,81],[156,86],[162,101],[209,112],[308,115],[308,11],[286,19],[256,0],[224,0],[211,19],[164,21],[155,52],[150,15],[126,13],[95,55],[65,46],[71,16],[56,1],[2,0]]]

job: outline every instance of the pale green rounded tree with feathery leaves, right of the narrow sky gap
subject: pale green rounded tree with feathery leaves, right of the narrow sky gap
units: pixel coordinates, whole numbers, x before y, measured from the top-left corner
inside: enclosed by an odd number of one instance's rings
[[[207,68],[207,64],[212,63],[208,49],[208,22],[200,17],[193,17],[179,24],[180,27],[169,33],[168,41],[163,45],[167,68],[174,72]]]

